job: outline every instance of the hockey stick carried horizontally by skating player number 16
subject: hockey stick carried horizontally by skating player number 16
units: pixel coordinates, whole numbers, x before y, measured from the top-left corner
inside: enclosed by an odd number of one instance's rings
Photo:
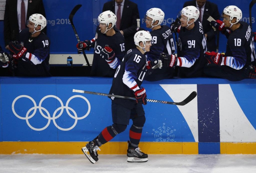
[[[99,95],[99,96],[108,96],[108,97],[117,97],[117,98],[124,98],[124,99],[131,99],[131,100],[136,100],[134,97],[127,97],[127,96],[119,96],[119,95],[113,95],[113,94],[104,94],[104,93],[95,93],[91,91],[83,91],[83,90],[78,90],[78,89],[73,89],[73,92],[76,93],[86,93],[86,94],[94,94],[94,95]],[[185,100],[182,102],[170,102],[170,101],[161,101],[161,100],[151,100],[147,99],[148,102],[154,102],[154,103],[164,103],[164,104],[170,104],[170,105],[179,105],[179,106],[184,106],[191,100],[193,100],[196,97],[197,93],[196,91],[193,91]]]

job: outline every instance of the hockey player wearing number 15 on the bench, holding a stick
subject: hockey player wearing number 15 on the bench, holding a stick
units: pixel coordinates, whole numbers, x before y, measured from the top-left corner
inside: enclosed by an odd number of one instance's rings
[[[114,27],[116,16],[112,11],[104,11],[98,17],[99,26],[96,28],[95,40],[85,40],[77,44],[78,53],[94,48],[90,76],[113,77],[117,58],[122,60],[125,52],[124,37]]]

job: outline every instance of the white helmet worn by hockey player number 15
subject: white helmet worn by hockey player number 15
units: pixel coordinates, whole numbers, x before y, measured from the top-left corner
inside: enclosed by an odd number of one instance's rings
[[[98,22],[99,23],[103,23],[103,24],[106,24],[107,28],[109,27],[109,24],[112,23],[112,27],[114,27],[115,23],[116,23],[116,15],[108,10],[108,11],[104,11],[102,12],[99,17],[98,17]],[[106,33],[108,30],[110,30],[111,28],[109,29],[106,29],[106,31],[104,33]],[[103,34],[104,34],[103,33]]]

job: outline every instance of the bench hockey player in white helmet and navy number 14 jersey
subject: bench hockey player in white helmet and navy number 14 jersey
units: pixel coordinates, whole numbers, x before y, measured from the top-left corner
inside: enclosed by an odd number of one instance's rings
[[[17,63],[17,76],[51,76],[50,39],[42,32],[46,23],[43,15],[31,15],[27,21],[28,28],[19,32],[19,42],[9,43],[13,60]]]

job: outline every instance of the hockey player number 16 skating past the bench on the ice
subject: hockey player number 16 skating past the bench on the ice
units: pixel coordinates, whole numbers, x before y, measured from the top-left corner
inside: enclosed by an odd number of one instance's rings
[[[145,112],[142,107],[147,104],[147,95],[141,87],[145,74],[151,68],[161,68],[161,60],[147,61],[145,52],[150,51],[151,35],[148,31],[138,31],[134,36],[135,49],[130,49],[117,67],[113,78],[110,94],[134,97],[136,100],[114,98],[112,99],[112,120],[113,124],[107,126],[94,140],[86,144],[82,151],[91,163],[98,161],[99,147],[125,131],[129,120],[133,124],[130,128],[127,149],[127,162],[147,162],[148,155],[138,147],[141,139],[142,128],[145,123]]]

